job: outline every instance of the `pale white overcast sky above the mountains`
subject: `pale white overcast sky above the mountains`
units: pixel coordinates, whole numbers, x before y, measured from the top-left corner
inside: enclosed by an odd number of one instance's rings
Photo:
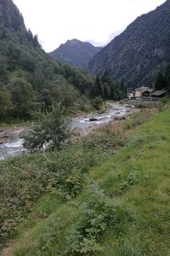
[[[165,0],[14,0],[47,52],[68,39],[105,45]]]

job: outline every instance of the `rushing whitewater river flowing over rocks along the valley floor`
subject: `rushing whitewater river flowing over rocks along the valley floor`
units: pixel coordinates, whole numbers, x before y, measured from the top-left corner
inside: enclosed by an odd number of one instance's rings
[[[96,112],[72,119],[71,131],[78,131],[78,133],[86,135],[88,131],[91,131],[96,126],[122,119],[132,111],[133,106],[131,105],[110,103],[110,107],[105,112]],[[0,131],[0,160],[14,157],[24,151],[23,139],[20,138],[22,131],[24,131],[23,128]]]

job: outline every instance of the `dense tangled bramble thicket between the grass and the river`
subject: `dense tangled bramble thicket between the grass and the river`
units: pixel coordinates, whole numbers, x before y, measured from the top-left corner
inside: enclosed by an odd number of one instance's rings
[[[59,151],[1,161],[0,244],[14,234],[15,226],[23,221],[42,195],[59,196],[63,202],[79,195],[89,169],[112,155],[117,145],[120,139],[103,131],[67,144]],[[49,200],[46,205],[50,207]],[[50,213],[42,208],[41,216]]]

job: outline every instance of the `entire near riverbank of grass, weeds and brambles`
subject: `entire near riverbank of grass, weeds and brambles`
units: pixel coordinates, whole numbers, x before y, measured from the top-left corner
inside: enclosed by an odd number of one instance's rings
[[[169,255],[169,116],[1,161],[2,255]]]

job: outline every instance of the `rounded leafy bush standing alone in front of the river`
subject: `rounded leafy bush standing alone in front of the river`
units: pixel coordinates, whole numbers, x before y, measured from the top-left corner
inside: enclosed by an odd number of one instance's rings
[[[69,137],[69,125],[63,117],[63,109],[58,106],[48,113],[38,113],[38,120],[31,130],[23,134],[24,147],[30,152],[60,148]]]

